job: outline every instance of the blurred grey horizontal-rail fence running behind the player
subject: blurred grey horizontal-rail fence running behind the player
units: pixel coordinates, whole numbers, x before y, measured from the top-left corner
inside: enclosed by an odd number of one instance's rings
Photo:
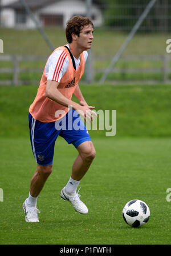
[[[95,62],[98,62],[99,60],[103,63],[103,61],[111,61],[111,57],[110,56],[93,56],[93,63],[95,64]],[[1,68],[0,68],[0,77],[1,74],[12,74],[12,78],[11,79],[7,79],[7,80],[0,80],[0,85],[25,85],[25,84],[35,84],[38,85],[39,81],[35,80],[35,79],[26,79],[26,80],[22,80],[20,78],[20,75],[22,73],[27,73],[27,74],[34,74],[34,73],[39,73],[40,76],[42,75],[43,72],[43,68],[22,68],[20,66],[20,62],[30,62],[30,61],[43,61],[44,63],[46,63],[47,60],[47,56],[19,56],[19,55],[6,55],[6,54],[2,54],[0,56],[0,61],[1,63],[3,61],[6,62],[11,62],[12,63],[12,67],[11,68],[7,68],[7,67],[3,67],[3,65],[1,64]],[[143,80],[143,82],[171,82],[171,78],[169,78],[169,65],[170,65],[170,61],[171,61],[171,56],[168,54],[164,54],[164,55],[129,55],[129,56],[123,56],[120,58],[120,61],[124,61],[124,65],[122,67],[115,67],[111,70],[111,73],[114,74],[160,74],[161,76],[161,81],[158,81],[155,79],[155,77],[153,79],[146,79],[145,81]],[[129,65],[130,61],[140,61],[141,63],[143,61],[151,61],[151,62],[160,62],[160,66],[156,67],[156,66],[150,66],[150,67],[131,67]],[[95,66],[95,65],[94,65]],[[96,77],[96,74],[100,74],[103,73],[104,68],[93,68],[93,76]],[[95,81],[97,82],[97,81]],[[115,80],[115,78],[113,79],[113,82],[121,82],[118,80]],[[126,79],[123,81],[124,83],[131,83],[131,82],[135,82],[135,81],[131,81],[130,79]],[[139,82],[141,82],[141,78],[139,80]]]

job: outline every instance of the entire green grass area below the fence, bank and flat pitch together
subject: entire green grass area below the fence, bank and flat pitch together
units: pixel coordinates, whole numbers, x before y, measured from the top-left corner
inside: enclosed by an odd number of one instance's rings
[[[35,171],[28,137],[28,107],[36,86],[1,86],[0,141],[3,202],[0,202],[1,245],[170,245],[171,134],[169,85],[83,85],[89,104],[116,109],[117,133],[89,131],[96,158],[80,183],[89,213],[75,212],[60,199],[76,149],[56,141],[54,169],[39,198],[39,223],[26,223],[22,204]],[[67,160],[66,160],[67,159]],[[122,210],[141,199],[150,208],[149,222],[129,227]]]

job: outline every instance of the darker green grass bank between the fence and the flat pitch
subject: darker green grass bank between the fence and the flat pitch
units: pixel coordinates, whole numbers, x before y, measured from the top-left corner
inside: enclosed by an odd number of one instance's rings
[[[99,109],[116,109],[117,136],[170,137],[170,85],[82,85],[89,105]],[[28,136],[28,108],[38,86],[0,87],[0,136]],[[75,100],[75,97],[73,97]],[[95,137],[105,136],[94,131]]]

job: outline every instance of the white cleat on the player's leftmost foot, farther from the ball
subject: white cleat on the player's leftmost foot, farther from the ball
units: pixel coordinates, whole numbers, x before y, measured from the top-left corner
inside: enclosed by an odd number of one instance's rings
[[[40,211],[36,207],[28,207],[26,202],[27,199],[23,203],[23,210],[25,211],[26,222],[39,222],[38,213],[40,213]]]

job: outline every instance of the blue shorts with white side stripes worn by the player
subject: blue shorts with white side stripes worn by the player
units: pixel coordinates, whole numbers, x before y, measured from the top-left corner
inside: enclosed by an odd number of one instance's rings
[[[82,119],[73,109],[70,109],[62,119],[51,123],[35,120],[30,113],[28,113],[28,121],[32,152],[36,162],[41,166],[53,163],[55,141],[58,135],[68,144],[72,143],[75,148],[84,141],[91,140]]]

